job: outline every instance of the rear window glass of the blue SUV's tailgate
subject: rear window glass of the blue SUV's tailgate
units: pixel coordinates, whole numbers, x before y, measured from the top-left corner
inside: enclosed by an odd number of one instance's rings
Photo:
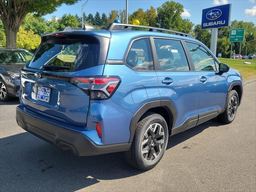
[[[72,72],[104,64],[99,63],[99,58],[100,42],[94,37],[48,39],[40,45],[28,66],[41,70],[46,65],[67,66],[70,69],[61,71]]]

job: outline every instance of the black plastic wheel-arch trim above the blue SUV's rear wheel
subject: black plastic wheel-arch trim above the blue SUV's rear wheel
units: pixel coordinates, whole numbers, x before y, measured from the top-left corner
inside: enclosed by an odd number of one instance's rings
[[[132,140],[133,140],[136,125],[137,125],[138,121],[140,120],[140,118],[143,116],[143,114],[146,111],[148,111],[151,108],[155,108],[155,107],[164,107],[171,113],[171,125],[172,125],[171,128],[173,128],[173,126],[176,122],[177,111],[176,111],[174,104],[170,100],[155,100],[155,101],[146,102],[138,109],[138,111],[132,117],[132,120],[130,122],[130,140],[129,140],[129,142],[132,142]]]

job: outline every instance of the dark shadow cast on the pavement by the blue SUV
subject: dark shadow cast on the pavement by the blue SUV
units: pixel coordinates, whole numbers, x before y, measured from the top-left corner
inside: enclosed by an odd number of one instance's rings
[[[172,136],[167,149],[199,134],[216,121]],[[100,182],[138,175],[122,153],[77,157],[28,132],[0,139],[0,191],[76,191]],[[102,189],[98,189],[102,190]]]

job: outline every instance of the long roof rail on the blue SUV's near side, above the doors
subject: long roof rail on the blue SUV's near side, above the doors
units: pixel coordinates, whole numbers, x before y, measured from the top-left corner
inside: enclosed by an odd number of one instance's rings
[[[124,28],[122,28],[122,26],[124,26]],[[149,31],[152,31],[152,32],[166,31],[166,32],[170,32],[170,33],[173,33],[173,34],[178,34],[178,35],[181,35],[181,36],[194,38],[194,37],[191,36],[190,34],[178,32],[178,31],[173,31],[173,30],[168,30],[168,29],[162,29],[162,28],[156,28],[156,27],[148,27],[148,26],[140,26],[140,25],[122,24],[122,23],[110,23],[110,24],[108,25],[108,27],[106,28],[106,30],[108,30],[108,31],[130,31],[130,30],[132,30],[133,27],[139,27],[139,28],[149,29]]]

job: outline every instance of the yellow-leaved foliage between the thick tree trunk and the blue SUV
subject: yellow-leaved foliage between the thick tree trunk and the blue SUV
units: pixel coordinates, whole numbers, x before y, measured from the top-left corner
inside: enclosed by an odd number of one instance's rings
[[[24,48],[26,50],[35,50],[40,45],[41,38],[39,35],[34,34],[32,30],[24,30],[20,26],[20,30],[17,34],[17,46],[18,48]]]

